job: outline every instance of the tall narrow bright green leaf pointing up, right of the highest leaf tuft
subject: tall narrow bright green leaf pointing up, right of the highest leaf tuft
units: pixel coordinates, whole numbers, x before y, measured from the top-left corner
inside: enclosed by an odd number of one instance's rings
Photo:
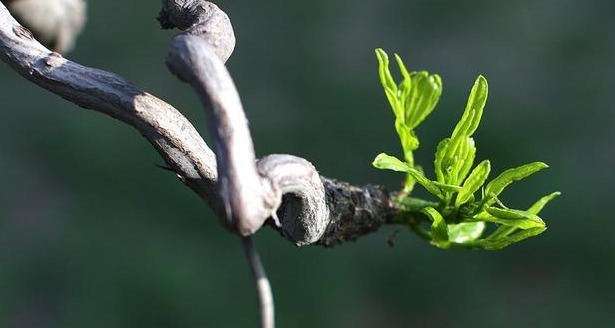
[[[485,103],[487,102],[487,95],[487,80],[482,75],[479,75],[476,82],[474,82],[472,91],[470,91],[466,109],[463,112],[461,120],[459,120],[459,123],[455,126],[451,139],[462,136],[469,137],[476,131],[480,119],[483,116],[483,108],[485,108]]]

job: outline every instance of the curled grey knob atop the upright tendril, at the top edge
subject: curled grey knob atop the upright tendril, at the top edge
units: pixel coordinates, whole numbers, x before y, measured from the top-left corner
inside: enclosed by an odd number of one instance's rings
[[[203,38],[218,58],[226,62],[235,49],[235,33],[228,15],[215,4],[203,0],[164,1],[158,16],[164,29],[178,28]]]

